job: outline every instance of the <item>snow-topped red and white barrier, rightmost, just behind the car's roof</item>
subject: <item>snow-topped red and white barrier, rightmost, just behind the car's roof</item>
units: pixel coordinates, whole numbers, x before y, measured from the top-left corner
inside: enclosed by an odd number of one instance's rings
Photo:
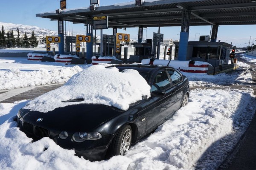
[[[143,64],[149,64],[150,59],[143,59],[141,61]],[[196,74],[207,74],[209,63],[195,61],[194,64],[189,64],[189,61],[177,61],[177,60],[164,60],[164,59],[155,59],[153,62],[154,65],[167,65],[169,67],[176,68],[179,71],[186,73],[196,73]]]

